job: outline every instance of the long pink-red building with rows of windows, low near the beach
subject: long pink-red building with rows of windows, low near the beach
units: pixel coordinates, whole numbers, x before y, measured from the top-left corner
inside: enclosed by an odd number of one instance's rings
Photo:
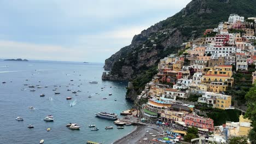
[[[199,128],[202,131],[206,129],[208,131],[214,131],[213,119],[200,117],[191,113],[185,116],[185,124]]]

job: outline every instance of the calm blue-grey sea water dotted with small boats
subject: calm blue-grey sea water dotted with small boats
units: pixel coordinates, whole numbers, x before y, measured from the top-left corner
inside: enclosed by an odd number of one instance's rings
[[[0,60],[0,143],[39,143],[41,139],[44,143],[85,143],[87,140],[112,143],[132,131],[133,126],[119,130],[113,121],[94,115],[101,111],[119,115],[132,107],[132,103],[125,100],[127,83],[102,81],[102,67],[103,64],[97,63]],[[89,84],[89,81],[98,83]],[[28,88],[24,84],[43,88]],[[57,91],[53,91],[54,88]],[[30,89],[36,91],[31,92]],[[75,95],[67,89],[82,92]],[[45,97],[39,97],[42,93]],[[109,96],[109,93],[113,95]],[[92,98],[88,98],[89,95]],[[72,100],[66,100],[69,96]],[[107,99],[103,100],[104,97]],[[28,109],[30,106],[35,110]],[[47,115],[53,115],[54,122],[44,122]],[[16,121],[18,116],[24,121]],[[77,123],[80,130],[68,129],[66,124],[69,122]],[[28,124],[35,127],[28,129]],[[91,131],[89,124],[96,124],[100,130]],[[114,129],[105,130],[106,126]],[[51,130],[46,131],[47,128]]]

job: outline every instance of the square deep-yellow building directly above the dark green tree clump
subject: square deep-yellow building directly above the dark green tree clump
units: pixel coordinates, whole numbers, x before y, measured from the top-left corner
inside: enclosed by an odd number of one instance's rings
[[[229,109],[231,107],[231,96],[218,94],[216,96],[216,106],[217,109]]]

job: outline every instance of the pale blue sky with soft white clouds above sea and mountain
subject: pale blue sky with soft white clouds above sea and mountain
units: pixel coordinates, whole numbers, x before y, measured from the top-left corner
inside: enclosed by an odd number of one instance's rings
[[[0,58],[100,62],[191,0],[1,0]]]

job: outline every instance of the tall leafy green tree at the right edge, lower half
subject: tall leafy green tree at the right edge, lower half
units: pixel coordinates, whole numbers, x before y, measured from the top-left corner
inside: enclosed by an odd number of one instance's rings
[[[252,143],[256,142],[256,83],[253,84],[253,87],[250,88],[250,91],[247,92],[245,96],[247,100],[247,110],[245,113],[245,118],[248,118],[252,121],[253,129],[249,132],[249,139]]]

